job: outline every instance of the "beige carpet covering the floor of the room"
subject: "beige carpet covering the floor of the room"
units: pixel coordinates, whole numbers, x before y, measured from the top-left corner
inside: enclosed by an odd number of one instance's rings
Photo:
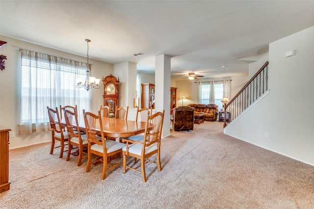
[[[50,143],[9,152],[11,189],[2,209],[314,209],[314,167],[223,134],[207,122],[162,139],[161,164],[139,173],[85,172],[86,159],[60,159]],[[131,159],[130,159],[131,160]]]

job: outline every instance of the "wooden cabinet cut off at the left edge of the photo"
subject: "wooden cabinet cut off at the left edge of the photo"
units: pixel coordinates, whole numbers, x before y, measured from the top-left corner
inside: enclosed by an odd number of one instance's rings
[[[11,130],[0,125],[0,192],[10,189],[9,131]]]

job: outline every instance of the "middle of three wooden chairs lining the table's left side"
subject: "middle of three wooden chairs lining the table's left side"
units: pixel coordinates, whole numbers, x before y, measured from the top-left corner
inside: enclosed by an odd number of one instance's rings
[[[68,131],[68,155],[67,155],[67,161],[70,159],[71,154],[72,155],[77,155],[78,154],[78,166],[81,165],[82,159],[85,158],[83,157],[83,154],[86,154],[84,152],[84,148],[87,149],[87,135],[86,134],[81,134],[80,131],[74,131],[74,130],[79,130],[79,125],[78,125],[78,113],[76,110],[74,112],[65,109],[64,110],[64,119],[66,123],[66,128]],[[78,148],[78,150],[75,150],[75,152],[71,153],[71,151],[74,148]],[[86,156],[87,157],[87,156]]]

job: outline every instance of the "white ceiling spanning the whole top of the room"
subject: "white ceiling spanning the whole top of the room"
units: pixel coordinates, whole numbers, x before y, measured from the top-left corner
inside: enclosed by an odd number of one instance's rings
[[[245,75],[238,58],[311,26],[313,0],[0,0],[1,35],[83,56],[90,39],[91,58],[152,74],[167,54],[172,78]]]

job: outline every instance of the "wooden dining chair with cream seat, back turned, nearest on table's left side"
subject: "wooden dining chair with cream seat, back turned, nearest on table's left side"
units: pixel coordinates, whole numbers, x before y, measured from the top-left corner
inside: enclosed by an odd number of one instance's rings
[[[101,111],[98,111],[98,115],[91,112],[84,113],[84,122],[85,122],[86,134],[87,134],[87,140],[88,140],[88,147],[87,147],[88,160],[87,160],[86,172],[90,171],[90,167],[92,163],[94,164],[96,162],[102,161],[103,162],[102,180],[104,180],[106,178],[107,170],[110,170],[122,163],[122,161],[117,164],[112,164],[110,162],[107,162],[108,157],[119,154],[119,153],[121,155],[122,148],[124,148],[126,145],[124,143],[105,139],[103,123],[101,119],[102,119]],[[101,141],[97,139],[96,123],[99,123],[99,126],[100,126]],[[92,162],[92,155],[98,155],[101,158],[98,158]],[[107,168],[108,164],[110,165],[109,168]]]

